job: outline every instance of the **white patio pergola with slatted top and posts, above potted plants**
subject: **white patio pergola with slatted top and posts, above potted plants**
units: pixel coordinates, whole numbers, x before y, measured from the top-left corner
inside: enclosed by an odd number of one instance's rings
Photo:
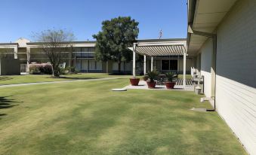
[[[133,76],[135,77],[135,53],[144,56],[144,74],[146,74],[146,56],[151,56],[151,71],[153,71],[153,56],[184,56],[184,87],[186,86],[186,57],[187,41],[158,41],[138,42],[134,47],[128,47],[133,51]]]

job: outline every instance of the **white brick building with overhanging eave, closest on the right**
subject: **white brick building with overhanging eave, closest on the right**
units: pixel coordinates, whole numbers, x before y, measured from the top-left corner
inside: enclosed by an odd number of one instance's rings
[[[191,73],[245,149],[256,154],[256,1],[189,0]]]

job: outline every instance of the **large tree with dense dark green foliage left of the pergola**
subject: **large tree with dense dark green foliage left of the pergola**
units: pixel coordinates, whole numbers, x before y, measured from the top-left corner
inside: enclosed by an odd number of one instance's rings
[[[131,60],[132,47],[139,33],[139,23],[131,20],[131,17],[117,17],[102,22],[102,29],[93,38],[97,40],[95,58],[100,61],[113,60],[119,64]]]

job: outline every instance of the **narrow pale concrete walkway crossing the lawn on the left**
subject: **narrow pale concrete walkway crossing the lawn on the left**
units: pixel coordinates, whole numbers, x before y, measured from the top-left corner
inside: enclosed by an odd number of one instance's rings
[[[59,83],[71,83],[71,82],[79,82],[79,81],[106,81],[113,80],[118,78],[95,78],[95,79],[84,79],[84,80],[70,80],[70,81],[50,81],[50,82],[34,82],[34,83],[25,83],[25,84],[5,84],[0,85],[0,88],[5,87],[17,87],[17,86],[29,86],[29,85],[37,85],[37,84],[59,84]]]

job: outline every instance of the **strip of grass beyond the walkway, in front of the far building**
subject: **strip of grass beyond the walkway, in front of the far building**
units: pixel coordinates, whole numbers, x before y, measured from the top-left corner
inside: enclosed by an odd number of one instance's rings
[[[86,80],[95,78],[128,78],[131,75],[109,75],[106,73],[79,73],[79,74],[65,74],[60,78],[52,78],[48,74],[28,74],[28,75],[12,75],[0,76],[0,85],[5,84],[26,84],[35,82],[50,82],[50,81],[70,81],[70,80]]]

